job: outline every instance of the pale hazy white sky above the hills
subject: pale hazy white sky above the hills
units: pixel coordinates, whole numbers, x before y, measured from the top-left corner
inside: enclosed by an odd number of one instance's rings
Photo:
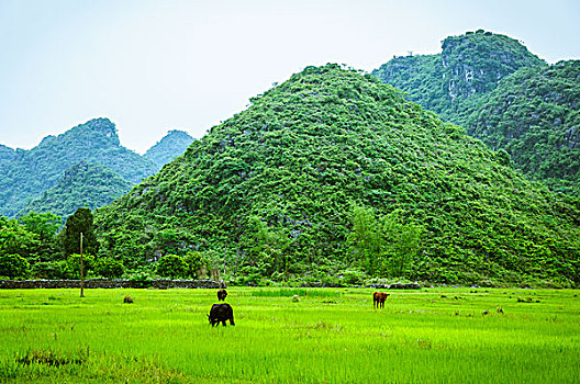
[[[480,27],[548,63],[580,58],[578,0],[0,0],[0,144],[102,116],[144,153],[168,129],[203,136],[305,66],[370,71]]]

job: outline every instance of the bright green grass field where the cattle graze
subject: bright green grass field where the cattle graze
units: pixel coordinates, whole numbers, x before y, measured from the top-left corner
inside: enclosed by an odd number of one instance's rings
[[[0,291],[0,382],[580,382],[577,291]]]

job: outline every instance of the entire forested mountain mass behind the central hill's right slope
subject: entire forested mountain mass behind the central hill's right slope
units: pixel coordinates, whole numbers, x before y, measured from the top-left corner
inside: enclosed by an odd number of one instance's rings
[[[531,180],[580,195],[578,61],[548,66],[507,36],[478,32],[447,37],[442,54],[395,57],[372,74],[505,149]]]

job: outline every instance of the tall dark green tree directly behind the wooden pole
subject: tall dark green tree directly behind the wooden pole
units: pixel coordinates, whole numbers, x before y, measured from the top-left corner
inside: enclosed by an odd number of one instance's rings
[[[82,249],[85,253],[97,255],[99,242],[94,236],[92,213],[86,207],[78,208],[68,216],[65,227],[58,235],[65,256],[80,253],[80,234],[82,233]]]

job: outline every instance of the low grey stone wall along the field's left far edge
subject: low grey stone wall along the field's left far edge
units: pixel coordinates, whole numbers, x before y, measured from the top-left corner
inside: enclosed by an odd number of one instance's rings
[[[115,280],[87,279],[86,289],[220,289],[226,287],[223,282],[213,280]],[[80,280],[0,280],[0,290],[25,289],[80,289]]]

